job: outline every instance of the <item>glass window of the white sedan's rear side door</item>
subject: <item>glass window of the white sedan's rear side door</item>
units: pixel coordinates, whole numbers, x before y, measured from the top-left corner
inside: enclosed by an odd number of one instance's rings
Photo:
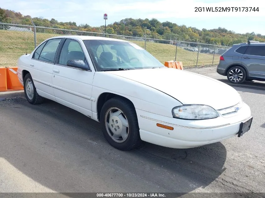
[[[50,39],[40,53],[39,60],[53,63],[56,50],[61,42],[61,38]]]

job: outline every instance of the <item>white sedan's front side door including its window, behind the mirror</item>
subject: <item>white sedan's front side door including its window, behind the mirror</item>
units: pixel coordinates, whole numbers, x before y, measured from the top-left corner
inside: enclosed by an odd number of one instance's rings
[[[56,101],[92,117],[92,83],[94,72],[67,66],[68,60],[83,60],[86,48],[82,48],[78,40],[66,39],[59,50],[56,64],[53,68],[52,87]],[[89,58],[89,57],[88,57]]]

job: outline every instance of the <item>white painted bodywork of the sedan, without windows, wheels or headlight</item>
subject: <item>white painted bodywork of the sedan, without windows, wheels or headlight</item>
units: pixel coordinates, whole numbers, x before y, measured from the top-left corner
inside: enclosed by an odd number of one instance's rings
[[[183,104],[205,104],[214,109],[231,107],[241,101],[238,92],[218,80],[188,71],[160,68],[95,72],[82,40],[104,37],[60,36],[81,43],[91,71],[62,67],[23,55],[18,61],[18,77],[28,70],[39,95],[57,101],[98,121],[97,101],[108,92],[129,99],[135,107],[142,140],[172,148],[191,148],[222,141],[238,133],[241,121],[251,116],[248,105],[231,117],[183,120],[172,117],[172,108]],[[54,73],[53,69],[60,70]],[[21,82],[22,83],[22,82]],[[60,90],[61,89],[61,90]],[[163,129],[156,123],[174,127]]]

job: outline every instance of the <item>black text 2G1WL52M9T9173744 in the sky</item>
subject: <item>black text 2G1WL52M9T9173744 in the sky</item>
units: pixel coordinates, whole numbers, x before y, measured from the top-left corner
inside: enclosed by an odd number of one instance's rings
[[[195,7],[195,12],[258,12],[258,7]]]

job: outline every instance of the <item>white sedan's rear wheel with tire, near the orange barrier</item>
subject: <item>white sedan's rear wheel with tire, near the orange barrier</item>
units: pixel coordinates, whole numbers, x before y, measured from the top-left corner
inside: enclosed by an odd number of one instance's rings
[[[24,93],[30,104],[40,104],[44,100],[44,98],[37,93],[30,74],[26,74],[24,77]]]

